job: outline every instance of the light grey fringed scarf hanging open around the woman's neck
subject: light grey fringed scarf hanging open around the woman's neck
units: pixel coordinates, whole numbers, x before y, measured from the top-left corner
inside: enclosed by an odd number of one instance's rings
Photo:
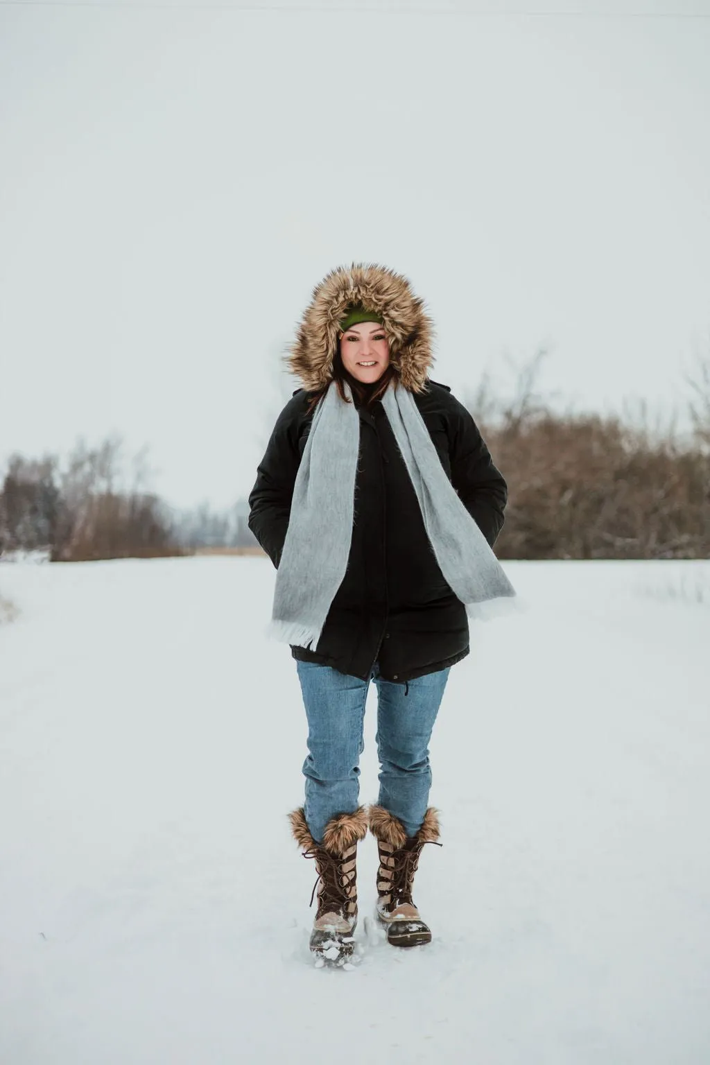
[[[351,397],[349,384],[345,392]],[[493,600],[515,595],[485,537],[459,498],[412,393],[391,382],[382,406],[416,492],[436,561],[473,618]],[[276,575],[267,635],[315,651],[347,569],[352,535],[360,415],[334,381],[313,415],[298,468]]]

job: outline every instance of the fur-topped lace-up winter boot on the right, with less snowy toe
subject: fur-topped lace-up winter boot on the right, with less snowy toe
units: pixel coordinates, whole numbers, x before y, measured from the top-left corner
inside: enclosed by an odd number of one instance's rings
[[[370,806],[368,818],[380,854],[377,916],[386,929],[387,943],[395,947],[431,943],[431,932],[419,917],[412,890],[422,848],[425,843],[442,846],[436,842],[437,810],[430,806],[419,831],[409,838],[401,821],[383,806]]]

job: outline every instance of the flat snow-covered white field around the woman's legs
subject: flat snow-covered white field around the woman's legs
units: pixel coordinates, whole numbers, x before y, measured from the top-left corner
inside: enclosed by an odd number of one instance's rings
[[[529,609],[472,623],[431,744],[434,941],[361,919],[344,972],[270,562],[0,566],[2,1065],[707,1065],[710,563],[507,571]]]

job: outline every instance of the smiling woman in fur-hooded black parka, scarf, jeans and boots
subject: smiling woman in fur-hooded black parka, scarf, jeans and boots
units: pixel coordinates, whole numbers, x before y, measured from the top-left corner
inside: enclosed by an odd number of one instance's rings
[[[277,420],[249,496],[249,528],[278,570],[269,632],[291,644],[308,719],[306,800],[290,818],[318,871],[311,950],[339,964],[352,952],[357,846],[368,828],[387,940],[431,939],[412,898],[420,852],[440,833],[429,739],[450,668],[469,653],[467,611],[514,594],[491,550],[506,481],[468,411],[429,378],[431,334],[401,275],[332,271],[286,356],[303,387]],[[366,808],[359,757],[370,681],[380,792]]]

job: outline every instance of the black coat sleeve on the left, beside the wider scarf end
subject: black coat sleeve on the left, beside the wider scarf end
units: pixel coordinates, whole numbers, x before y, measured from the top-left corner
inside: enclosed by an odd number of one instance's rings
[[[300,464],[298,415],[301,406],[300,399],[297,402],[293,397],[279,414],[249,493],[247,525],[277,570],[286,539],[291,501]]]

